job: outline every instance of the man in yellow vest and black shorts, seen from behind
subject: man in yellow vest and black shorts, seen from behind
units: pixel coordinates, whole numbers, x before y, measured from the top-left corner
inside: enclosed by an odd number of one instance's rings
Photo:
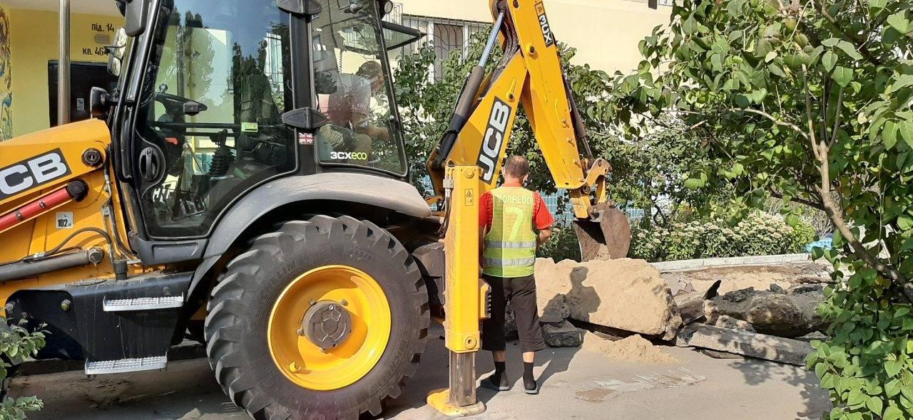
[[[482,239],[482,277],[491,286],[491,317],[482,323],[482,348],[495,359],[495,373],[482,386],[507,391],[504,307],[510,302],[523,352],[523,386],[539,394],[532,375],[536,352],[546,348],[536,308],[536,249],[551,237],[551,216],[538,192],[526,190],[530,162],[512,156],[504,163],[504,184],[482,195],[479,225]]]

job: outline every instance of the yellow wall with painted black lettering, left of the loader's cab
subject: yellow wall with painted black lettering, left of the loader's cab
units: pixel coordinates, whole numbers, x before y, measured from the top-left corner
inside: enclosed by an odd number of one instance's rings
[[[10,12],[10,17],[12,67],[16,69],[13,134],[21,136],[49,125],[47,62],[58,59],[58,14],[16,9]],[[104,44],[96,43],[95,36],[108,34],[113,37],[114,29],[122,25],[121,16],[73,15],[70,19],[70,60],[107,62]]]

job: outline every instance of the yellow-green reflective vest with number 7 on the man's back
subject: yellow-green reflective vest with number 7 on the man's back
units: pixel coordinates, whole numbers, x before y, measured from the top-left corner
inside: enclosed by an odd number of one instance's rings
[[[485,236],[483,272],[495,277],[526,277],[536,265],[532,229],[535,194],[522,187],[491,190],[491,230]]]

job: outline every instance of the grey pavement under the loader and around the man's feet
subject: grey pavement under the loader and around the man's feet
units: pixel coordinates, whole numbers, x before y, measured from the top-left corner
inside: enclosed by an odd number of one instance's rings
[[[425,405],[425,394],[445,387],[446,349],[430,334],[419,373],[382,418],[444,419]],[[510,343],[512,344],[512,343]],[[792,419],[820,418],[827,396],[813,373],[742,359],[713,359],[690,349],[663,347],[681,364],[616,362],[577,348],[540,352],[536,373],[541,394],[516,388],[495,393],[480,388],[488,405],[479,419]],[[519,347],[509,345],[509,374],[519,379]],[[493,370],[481,353],[478,376]],[[45,410],[36,419],[246,419],[215,383],[205,359],[178,361],[165,372],[99,376],[81,372],[18,377],[12,394],[37,394]]]

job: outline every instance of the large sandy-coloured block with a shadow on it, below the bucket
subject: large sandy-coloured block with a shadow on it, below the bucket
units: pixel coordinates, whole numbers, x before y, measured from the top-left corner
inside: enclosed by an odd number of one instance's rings
[[[550,304],[561,307],[558,296],[563,295],[570,318],[578,321],[666,340],[675,337],[682,324],[668,284],[643,260],[540,259],[536,287],[543,317]]]

